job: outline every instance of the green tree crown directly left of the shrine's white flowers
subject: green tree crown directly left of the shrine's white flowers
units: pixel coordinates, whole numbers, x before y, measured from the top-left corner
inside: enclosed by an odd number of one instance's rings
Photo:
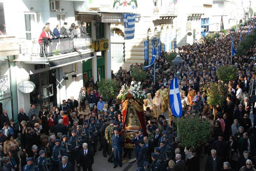
[[[98,83],[100,94],[103,100],[110,100],[116,98],[118,95],[118,82],[115,79],[102,79]]]

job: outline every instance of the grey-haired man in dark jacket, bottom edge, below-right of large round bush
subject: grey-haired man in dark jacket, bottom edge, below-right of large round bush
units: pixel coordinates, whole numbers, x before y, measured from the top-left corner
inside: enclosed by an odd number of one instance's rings
[[[207,157],[204,171],[220,171],[222,168],[222,159],[217,155],[215,149],[211,150],[211,155]]]

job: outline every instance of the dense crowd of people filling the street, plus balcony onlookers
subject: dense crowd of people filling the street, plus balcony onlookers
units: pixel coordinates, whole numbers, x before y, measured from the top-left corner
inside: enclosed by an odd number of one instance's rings
[[[46,23],[45,29],[48,27]],[[67,28],[64,27],[64,32],[62,28],[60,35],[68,36]],[[79,29],[76,26],[72,28]],[[242,28],[247,30],[248,26]],[[232,33],[235,47],[240,40],[240,29]],[[50,30],[48,32],[52,34]],[[207,104],[202,87],[218,82],[216,71],[231,64],[230,32],[219,34],[217,43],[199,41],[179,48],[180,56],[185,60],[179,85],[182,117],[194,116],[209,121],[213,132],[204,146],[184,147],[177,137],[176,124],[172,120],[174,116],[168,110],[169,85],[174,71],[165,59],[166,52],[162,52],[160,59],[156,60],[156,84],[152,68],[146,70],[147,79],[140,84],[148,96],[143,106],[146,132],[140,129],[132,139],[135,149],[123,148],[120,100],[105,102],[98,90],[98,82],[94,83],[91,77],[80,89],[77,100],[72,96],[62,100],[59,107],[47,110],[42,106],[37,112],[37,106],[31,104],[28,114],[20,108],[18,120],[9,119],[8,111],[2,110],[2,171],[18,171],[20,167],[22,171],[72,171],[77,168],[91,171],[94,163],[100,164],[100,161],[94,162],[97,151],[102,151],[104,157],[109,155],[108,162],[114,163],[114,168],[122,167],[123,159],[130,159],[135,151],[138,171],[199,171],[202,168],[200,158],[206,154],[205,171],[255,171],[256,115],[248,94],[256,76],[256,49],[252,45],[246,55],[234,57],[238,78],[228,84],[226,103],[216,106],[218,113],[213,118],[215,115]],[[246,31],[242,31],[242,35],[246,36]],[[146,63],[135,63],[129,71],[120,67],[116,75],[112,72],[112,79],[119,83],[119,88],[124,84],[138,83],[140,80],[132,77],[132,68],[144,69]],[[85,113],[86,108],[90,108],[90,112]],[[165,118],[166,112],[170,114],[169,118]],[[253,127],[250,116],[254,116]]]

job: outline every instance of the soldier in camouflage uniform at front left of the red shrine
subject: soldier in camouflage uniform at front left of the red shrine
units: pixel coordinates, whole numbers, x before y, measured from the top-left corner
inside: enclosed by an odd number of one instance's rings
[[[105,137],[106,137],[106,141],[108,143],[108,152],[110,153],[108,162],[110,162],[110,163],[114,163],[114,161],[112,160],[114,157],[114,153],[112,151],[112,135],[114,134],[113,122],[114,122],[114,120],[110,120],[109,125],[107,126],[107,128],[105,130]]]

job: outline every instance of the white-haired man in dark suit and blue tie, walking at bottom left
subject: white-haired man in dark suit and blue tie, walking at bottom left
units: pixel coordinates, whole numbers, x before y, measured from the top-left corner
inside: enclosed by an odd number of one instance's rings
[[[83,143],[83,149],[78,153],[77,166],[83,167],[83,171],[92,171],[92,164],[94,163],[93,152],[88,149],[88,144]]]

